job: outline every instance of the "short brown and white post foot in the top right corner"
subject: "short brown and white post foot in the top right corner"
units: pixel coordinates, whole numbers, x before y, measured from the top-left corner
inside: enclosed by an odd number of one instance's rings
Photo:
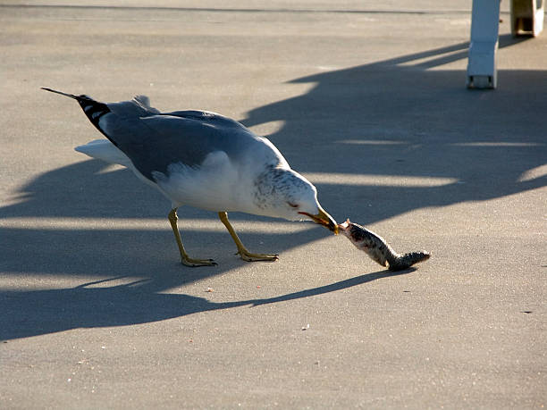
[[[511,34],[539,36],[543,30],[544,0],[511,0]]]

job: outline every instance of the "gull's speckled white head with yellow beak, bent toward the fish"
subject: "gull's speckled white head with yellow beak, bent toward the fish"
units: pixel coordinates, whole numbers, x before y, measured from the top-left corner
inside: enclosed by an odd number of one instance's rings
[[[338,224],[317,201],[317,189],[287,168],[269,167],[256,180],[254,204],[261,214],[289,221],[311,219],[338,234]]]

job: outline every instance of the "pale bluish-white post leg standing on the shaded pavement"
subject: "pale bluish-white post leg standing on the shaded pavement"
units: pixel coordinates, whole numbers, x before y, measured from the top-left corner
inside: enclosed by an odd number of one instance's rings
[[[500,0],[473,0],[467,88],[496,88]]]

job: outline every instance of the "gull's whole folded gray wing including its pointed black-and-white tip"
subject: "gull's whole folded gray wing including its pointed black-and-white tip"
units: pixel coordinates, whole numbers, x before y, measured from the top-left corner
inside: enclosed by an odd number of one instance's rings
[[[235,163],[246,155],[260,157],[265,165],[284,163],[271,143],[258,138],[240,122],[217,113],[196,110],[160,113],[150,106],[147,96],[105,104],[90,96],[43,89],[78,101],[88,120],[148,180],[155,181],[152,172],[166,173],[172,163],[198,167],[215,151],[223,151]]]

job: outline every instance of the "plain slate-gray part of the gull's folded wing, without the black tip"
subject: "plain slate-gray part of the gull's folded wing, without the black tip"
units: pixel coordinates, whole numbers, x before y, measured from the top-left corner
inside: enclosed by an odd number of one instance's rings
[[[152,172],[166,173],[171,163],[198,167],[215,151],[237,162],[249,150],[271,150],[239,122],[204,111],[137,116],[112,110],[99,127],[149,180],[154,180]]]

